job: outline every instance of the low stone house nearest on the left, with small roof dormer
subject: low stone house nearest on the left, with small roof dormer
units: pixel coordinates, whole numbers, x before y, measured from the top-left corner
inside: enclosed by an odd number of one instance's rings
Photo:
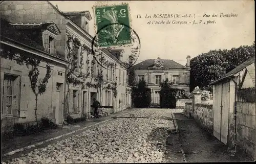
[[[48,80],[46,92],[38,96],[37,120],[49,116],[57,124],[63,122],[62,99],[63,84],[65,84],[65,68],[68,61],[42,51],[42,35],[51,33],[55,39],[60,33],[54,22],[41,24],[11,24],[1,19],[1,125],[16,122],[35,121],[35,94],[31,89],[28,76],[31,65],[16,63],[15,60],[3,58],[5,53],[24,54],[40,59],[39,77],[46,75],[46,64],[51,66],[51,77]],[[54,40],[53,40],[54,41]],[[51,50],[52,51],[52,50]],[[1,127],[2,127],[1,126]]]

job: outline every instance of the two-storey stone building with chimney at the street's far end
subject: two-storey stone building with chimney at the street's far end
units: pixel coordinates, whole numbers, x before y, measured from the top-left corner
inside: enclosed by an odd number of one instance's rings
[[[133,66],[136,80],[144,79],[152,92],[152,103],[160,102],[160,82],[167,79],[173,87],[189,91],[190,87],[190,56],[186,66],[169,59],[147,59]]]

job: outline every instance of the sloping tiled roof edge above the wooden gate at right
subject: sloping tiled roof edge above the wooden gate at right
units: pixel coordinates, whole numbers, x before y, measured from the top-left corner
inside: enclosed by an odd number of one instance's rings
[[[211,84],[216,84],[218,82],[220,82],[221,80],[224,80],[234,74],[237,74],[238,72],[242,71],[246,66],[252,64],[253,62],[255,62],[255,56],[249,58],[248,60],[246,60],[245,62],[243,62],[242,64],[240,64],[239,66],[237,66],[236,68],[232,69],[230,72],[228,72],[226,75],[224,75],[223,77],[221,77],[220,79],[212,82]]]

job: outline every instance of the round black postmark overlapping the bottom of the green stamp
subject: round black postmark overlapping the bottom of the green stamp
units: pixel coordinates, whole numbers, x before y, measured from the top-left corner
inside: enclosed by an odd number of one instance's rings
[[[95,44],[96,42],[97,44]],[[109,61],[103,55],[103,52],[111,53],[125,65],[126,69],[129,69],[136,63],[140,48],[138,34],[131,27],[121,22],[108,24],[100,28],[92,41],[93,57],[105,69],[111,68],[114,63]]]

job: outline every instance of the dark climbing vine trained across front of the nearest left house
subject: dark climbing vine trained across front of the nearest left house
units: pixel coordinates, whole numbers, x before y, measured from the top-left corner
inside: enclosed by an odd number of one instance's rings
[[[31,84],[31,89],[35,95],[35,121],[37,122],[37,103],[38,103],[38,96],[42,95],[46,91],[48,80],[51,78],[51,68],[50,65],[46,64],[46,75],[44,78],[39,79],[39,65],[41,60],[29,57],[22,51],[18,50],[1,50],[1,57],[8,58],[10,60],[15,60],[17,64],[24,65],[26,63],[27,67],[31,66],[31,69],[28,73],[28,77]]]

